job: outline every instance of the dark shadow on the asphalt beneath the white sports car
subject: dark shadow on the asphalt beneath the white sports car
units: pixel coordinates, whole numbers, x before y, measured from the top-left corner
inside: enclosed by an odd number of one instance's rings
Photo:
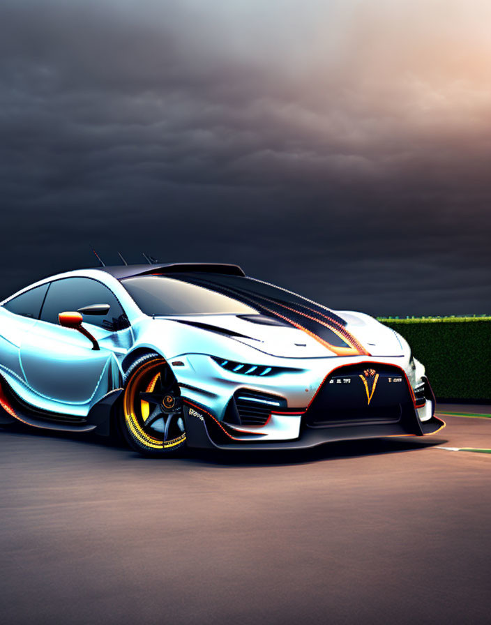
[[[71,432],[56,432],[54,430],[35,430],[20,424],[0,426],[0,435],[22,435],[31,437],[45,437],[47,439],[62,439],[75,442],[82,446],[91,445],[98,449],[107,449],[121,454],[121,458],[128,460],[144,460],[145,462],[179,462],[190,465],[216,466],[278,466],[292,464],[307,464],[322,460],[337,460],[340,458],[356,458],[358,456],[380,455],[386,453],[402,453],[423,450],[428,447],[448,442],[441,437],[387,437],[376,439],[361,439],[353,441],[335,441],[324,443],[310,449],[285,449],[275,451],[224,451],[220,449],[186,449],[169,458],[144,457],[128,449],[124,442],[110,437],[101,437],[95,434],[73,434]]]

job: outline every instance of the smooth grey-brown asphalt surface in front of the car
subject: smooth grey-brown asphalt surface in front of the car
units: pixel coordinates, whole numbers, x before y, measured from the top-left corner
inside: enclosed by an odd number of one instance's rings
[[[443,407],[491,413],[491,407]],[[0,623],[491,621],[491,419],[140,458],[0,431]]]

